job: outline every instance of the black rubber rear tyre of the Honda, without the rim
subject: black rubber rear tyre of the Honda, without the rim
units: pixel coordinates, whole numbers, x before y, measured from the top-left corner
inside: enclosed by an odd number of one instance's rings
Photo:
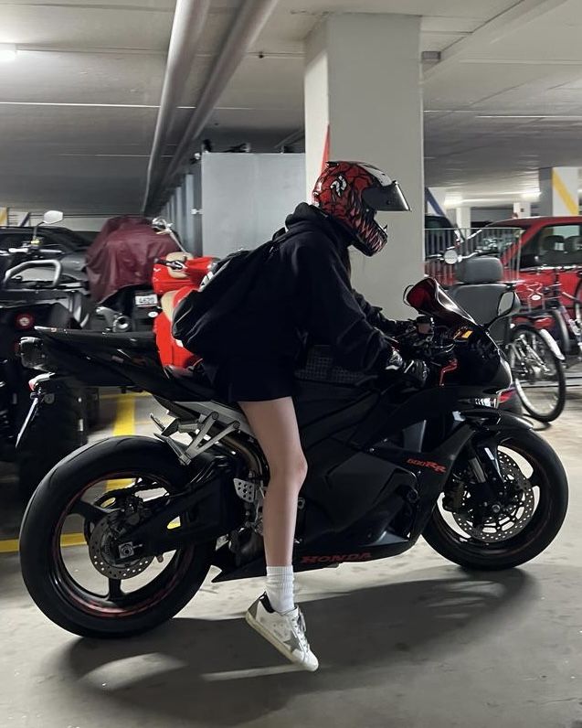
[[[81,637],[131,637],[161,625],[196,594],[214,555],[214,541],[176,551],[177,558],[156,578],[152,594],[135,597],[143,599],[139,604],[93,606],[76,597],[62,569],[58,524],[88,484],[129,472],[157,477],[175,491],[191,478],[167,445],[148,437],[111,437],[87,445],[55,467],[37,488],[22,522],[20,564],[29,594],[48,619]],[[90,560],[87,545],[75,548]]]

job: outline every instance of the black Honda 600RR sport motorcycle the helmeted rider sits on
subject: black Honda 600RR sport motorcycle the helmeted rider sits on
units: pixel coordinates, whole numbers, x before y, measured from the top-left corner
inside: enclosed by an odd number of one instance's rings
[[[421,535],[452,562],[505,569],[544,551],[565,518],[555,452],[486,404],[511,381],[487,327],[433,279],[406,297],[425,316],[424,334],[401,346],[429,363],[425,388],[333,365],[323,377],[306,366],[297,382],[309,463],[297,571],[394,556]],[[69,455],[37,488],[20,556],[45,615],[78,635],[129,636],[174,616],[213,564],[215,582],[264,573],[269,474],[243,413],[196,371],[161,369],[147,335],[38,333],[21,345],[27,366],[150,391],[173,416],[156,422],[157,439],[109,438]],[[86,569],[68,543],[82,545]]]

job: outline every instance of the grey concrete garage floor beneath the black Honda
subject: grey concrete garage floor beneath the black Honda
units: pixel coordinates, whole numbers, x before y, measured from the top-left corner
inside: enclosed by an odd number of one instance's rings
[[[150,431],[150,407],[106,401],[108,432]],[[0,728],[582,728],[581,413],[575,393],[545,431],[571,505],[555,543],[524,568],[471,576],[422,542],[392,560],[300,574],[315,674],[241,618],[260,580],[206,583],[157,631],[95,642],[50,624],[16,553],[0,554]],[[8,539],[17,511],[3,492]]]

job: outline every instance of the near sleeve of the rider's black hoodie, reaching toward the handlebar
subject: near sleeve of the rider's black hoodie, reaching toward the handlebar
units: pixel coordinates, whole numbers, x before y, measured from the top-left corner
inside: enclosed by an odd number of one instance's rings
[[[366,319],[333,244],[320,240],[301,245],[295,250],[294,258],[299,293],[305,302],[302,325],[309,334],[329,344],[335,358],[346,369],[384,369],[393,349]]]

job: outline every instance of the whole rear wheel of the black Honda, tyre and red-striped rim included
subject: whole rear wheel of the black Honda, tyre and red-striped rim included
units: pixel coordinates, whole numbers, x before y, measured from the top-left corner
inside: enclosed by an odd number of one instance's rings
[[[114,543],[124,519],[171,498],[191,476],[145,437],[89,445],[55,468],[26,509],[20,541],[26,588],[44,614],[83,637],[129,637],[180,611],[206,577],[214,542],[123,562]]]

